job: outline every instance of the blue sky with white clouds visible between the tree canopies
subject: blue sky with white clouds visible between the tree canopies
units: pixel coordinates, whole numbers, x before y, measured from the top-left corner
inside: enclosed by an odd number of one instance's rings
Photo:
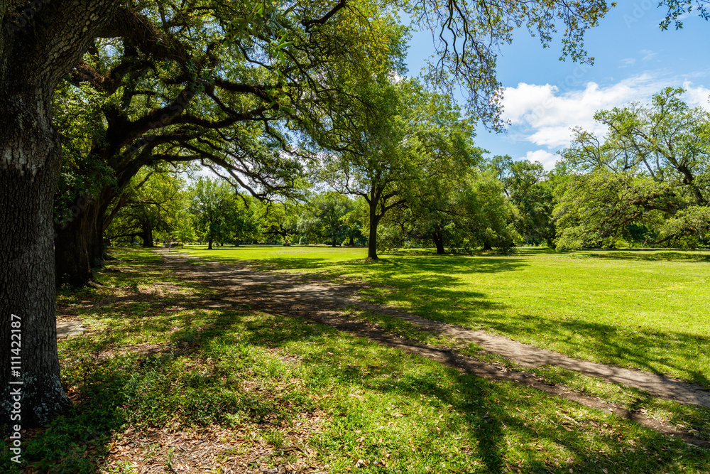
[[[661,31],[665,10],[656,0],[619,1],[597,28],[586,33],[585,48],[594,65],[560,61],[561,44],[543,49],[538,38],[518,31],[498,55],[507,134],[478,126],[476,144],[491,155],[540,161],[552,168],[556,152],[569,144],[569,129],[603,134],[592,116],[629,102],[648,102],[664,87],[684,87],[684,99],[709,109],[710,22],[691,15],[683,28]],[[430,33],[414,33],[408,53],[410,75],[432,54]]]

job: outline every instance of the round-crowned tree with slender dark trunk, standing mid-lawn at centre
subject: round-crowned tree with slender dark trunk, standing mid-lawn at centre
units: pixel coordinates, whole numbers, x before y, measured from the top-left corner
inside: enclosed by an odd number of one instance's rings
[[[436,200],[437,188],[465,173],[479,151],[471,124],[446,97],[414,80],[382,77],[367,87],[368,102],[337,117],[320,143],[327,144],[322,178],[368,205],[368,258],[376,260],[378,225],[387,212]],[[340,124],[349,121],[356,126]]]

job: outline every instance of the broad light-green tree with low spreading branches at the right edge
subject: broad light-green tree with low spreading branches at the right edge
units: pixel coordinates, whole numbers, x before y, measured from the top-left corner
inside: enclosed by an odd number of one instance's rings
[[[630,242],[695,246],[710,237],[710,114],[667,88],[648,105],[603,110],[599,139],[577,129],[559,190],[563,247]]]

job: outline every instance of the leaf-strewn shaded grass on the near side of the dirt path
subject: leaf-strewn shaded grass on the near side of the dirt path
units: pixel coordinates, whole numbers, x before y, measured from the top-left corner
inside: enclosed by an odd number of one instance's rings
[[[215,473],[710,471],[707,451],[611,414],[233,308],[153,254],[118,253],[121,271],[104,272],[102,289],[58,297],[89,333],[60,343],[75,409],[26,433],[23,456],[41,471],[177,469],[202,453],[200,439]]]

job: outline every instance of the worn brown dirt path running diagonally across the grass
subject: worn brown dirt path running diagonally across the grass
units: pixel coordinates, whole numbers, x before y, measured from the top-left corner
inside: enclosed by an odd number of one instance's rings
[[[599,398],[572,392],[559,384],[547,384],[540,377],[528,372],[511,372],[500,365],[488,364],[451,350],[434,348],[391,335],[377,328],[376,325],[346,318],[337,310],[354,304],[370,311],[378,311],[402,318],[435,333],[474,342],[483,347],[484,350],[503,355],[514,362],[520,363],[520,365],[528,367],[557,365],[610,382],[640,388],[657,397],[710,407],[710,392],[703,387],[669,379],[662,375],[602,365],[586,360],[576,360],[557,352],[518,343],[500,335],[493,335],[481,330],[467,330],[455,325],[430,321],[403,311],[396,311],[393,308],[383,308],[364,303],[355,298],[356,292],[352,286],[330,284],[325,281],[308,281],[299,275],[258,271],[239,262],[224,264],[208,262],[178,252],[166,252],[162,249],[158,250],[158,252],[162,254],[165,265],[182,278],[220,291],[219,298],[214,299],[209,306],[219,307],[225,304],[246,305],[258,311],[283,314],[284,316],[323,323],[389,347],[400,348],[406,352],[437,360],[478,377],[492,380],[510,380],[540,389],[557,397],[579,402],[585,406],[611,411],[622,418],[636,421],[655,431],[667,433],[671,436],[679,436],[688,443],[710,448],[710,441],[697,438],[692,436],[692,434],[675,429],[655,419],[650,419],[640,411],[627,411]],[[199,262],[199,264],[195,265],[191,262]]]

